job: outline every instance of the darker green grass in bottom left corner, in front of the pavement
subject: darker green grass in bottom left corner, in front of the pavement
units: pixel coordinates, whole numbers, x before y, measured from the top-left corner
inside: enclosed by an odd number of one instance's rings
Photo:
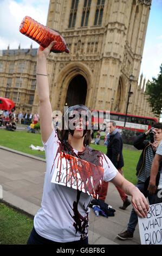
[[[25,245],[33,220],[0,203],[0,245]]]

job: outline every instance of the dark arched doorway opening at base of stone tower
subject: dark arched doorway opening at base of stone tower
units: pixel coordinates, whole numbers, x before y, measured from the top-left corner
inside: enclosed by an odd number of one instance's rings
[[[87,81],[82,75],[75,76],[69,83],[65,105],[85,105],[87,96]]]

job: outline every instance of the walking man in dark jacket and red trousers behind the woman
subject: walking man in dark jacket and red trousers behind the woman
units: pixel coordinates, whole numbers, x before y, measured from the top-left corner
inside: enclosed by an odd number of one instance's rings
[[[120,133],[118,132],[118,129],[116,129],[116,123],[114,121],[110,121],[108,123],[109,127],[109,135],[107,138],[107,156],[112,161],[116,169],[122,174],[122,167],[124,166],[124,160],[122,156],[122,138]],[[116,187],[120,197],[123,201],[123,205],[119,208],[122,210],[125,210],[128,205],[131,204],[130,200],[128,199],[128,196],[124,191],[121,190],[121,188]],[[100,200],[104,200],[107,195],[108,190],[108,182],[103,181],[102,187],[101,187],[101,193],[99,196]]]

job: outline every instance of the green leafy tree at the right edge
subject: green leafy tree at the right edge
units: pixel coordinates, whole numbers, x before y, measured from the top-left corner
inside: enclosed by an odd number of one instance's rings
[[[152,78],[152,82],[148,82],[145,94],[147,101],[150,103],[152,112],[159,117],[162,107],[162,64],[160,65],[160,73],[158,78]]]

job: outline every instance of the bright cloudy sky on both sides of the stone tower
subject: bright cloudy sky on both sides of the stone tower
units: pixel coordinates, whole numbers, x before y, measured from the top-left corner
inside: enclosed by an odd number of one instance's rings
[[[130,0],[127,0],[130,1]],[[46,25],[49,0],[0,0],[0,50],[29,48],[31,42],[34,47],[38,44],[22,35],[19,26],[23,17],[30,16],[34,20]],[[146,81],[157,78],[162,63],[162,0],[152,0],[148,19],[144,53],[142,57],[140,75]]]

